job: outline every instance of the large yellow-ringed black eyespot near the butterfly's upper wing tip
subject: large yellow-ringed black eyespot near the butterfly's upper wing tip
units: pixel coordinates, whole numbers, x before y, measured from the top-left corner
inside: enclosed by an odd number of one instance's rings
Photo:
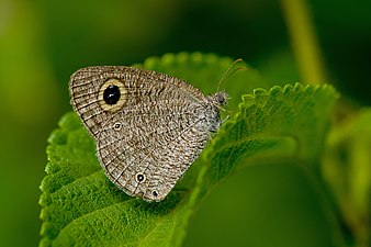
[[[109,79],[101,87],[98,100],[104,111],[116,112],[126,102],[127,90],[117,79]]]

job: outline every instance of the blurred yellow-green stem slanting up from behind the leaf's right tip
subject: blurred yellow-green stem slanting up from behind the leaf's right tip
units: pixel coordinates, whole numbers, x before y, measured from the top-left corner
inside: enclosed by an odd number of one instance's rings
[[[305,0],[281,0],[291,45],[306,83],[326,81],[321,48]]]

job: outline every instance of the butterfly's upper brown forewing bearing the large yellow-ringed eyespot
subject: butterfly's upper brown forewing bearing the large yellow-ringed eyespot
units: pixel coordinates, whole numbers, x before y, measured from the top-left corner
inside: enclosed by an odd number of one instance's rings
[[[102,98],[110,80],[122,86],[116,105],[108,105]],[[79,69],[70,78],[69,91],[74,110],[94,137],[106,120],[124,109],[170,98],[187,98],[191,101],[204,99],[198,89],[177,78],[124,66]]]

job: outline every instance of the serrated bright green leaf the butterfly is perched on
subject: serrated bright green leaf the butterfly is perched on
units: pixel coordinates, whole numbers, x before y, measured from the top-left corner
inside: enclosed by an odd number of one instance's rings
[[[183,53],[149,58],[143,67],[198,81],[206,92],[216,90],[232,61]],[[258,81],[258,74],[247,69],[224,86],[236,98]],[[203,159],[159,203],[131,198],[112,184],[98,162],[94,142],[77,115],[67,113],[48,139],[47,175],[41,184],[41,246],[180,246],[201,199],[236,168],[282,158],[313,166],[335,99],[329,86],[299,83],[244,94],[238,113],[225,122]]]

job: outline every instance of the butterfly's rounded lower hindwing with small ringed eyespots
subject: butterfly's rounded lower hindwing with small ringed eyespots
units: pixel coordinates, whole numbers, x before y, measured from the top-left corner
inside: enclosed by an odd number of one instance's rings
[[[126,193],[162,200],[210,138],[204,108],[156,101],[115,114],[99,136],[101,164]]]

